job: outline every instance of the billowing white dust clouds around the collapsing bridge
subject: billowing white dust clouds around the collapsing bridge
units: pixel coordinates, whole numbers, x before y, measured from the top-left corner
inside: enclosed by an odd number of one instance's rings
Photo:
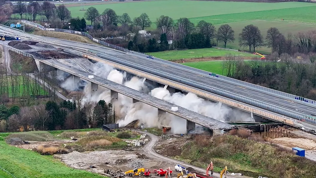
[[[185,95],[178,92],[171,94],[168,90],[162,87],[154,88],[153,90],[149,91],[149,88],[144,84],[143,79],[136,76],[123,83],[124,75],[122,72],[119,72],[118,70],[102,63],[96,63],[96,66],[94,67],[94,74],[102,76],[113,82],[123,84],[134,90],[149,93],[156,98],[163,99],[175,105],[179,105],[191,111],[198,112],[220,121],[225,121],[227,118],[229,118],[229,120],[236,121],[253,121],[249,114],[244,112],[237,113],[237,111],[234,111],[228,106],[220,106],[218,103],[212,103],[208,100],[204,100],[199,98],[194,93],[188,93]],[[71,81],[70,79],[66,79],[62,86],[76,87],[76,85],[71,83],[73,81],[72,77],[70,78]],[[103,99],[107,103],[111,102],[110,90],[102,86],[98,86],[97,92],[92,93],[90,82],[88,82],[88,84],[85,86],[84,92],[87,100],[99,101]],[[142,102],[133,103],[132,99],[125,95],[119,94],[118,101],[112,104],[115,106],[117,116],[120,118],[118,121],[120,126],[125,126],[132,121],[139,120],[139,124],[142,124],[145,127],[161,127],[161,125],[170,125],[172,127],[173,133],[186,132],[185,119],[179,118],[169,113],[166,114],[165,118],[162,116],[158,117],[157,108]]]

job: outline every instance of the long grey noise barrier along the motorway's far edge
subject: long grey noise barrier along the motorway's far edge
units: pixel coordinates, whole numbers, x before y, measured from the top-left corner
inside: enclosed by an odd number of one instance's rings
[[[210,72],[207,72],[207,71],[204,71],[204,70],[196,69],[196,68],[193,68],[193,67],[188,67],[188,66],[181,65],[181,64],[178,64],[178,63],[175,63],[175,62],[171,62],[171,61],[168,61],[168,60],[163,60],[163,59],[151,56],[151,55],[147,55],[147,54],[131,51],[131,50],[128,50],[126,48],[123,48],[123,47],[120,47],[120,46],[117,46],[117,45],[113,45],[113,44],[110,44],[110,43],[106,43],[106,42],[101,41],[99,39],[93,38],[91,35],[89,35],[86,32],[78,32],[78,31],[67,30],[67,29],[48,29],[48,28],[45,28],[44,26],[42,26],[40,24],[37,24],[37,23],[34,23],[34,22],[30,22],[30,21],[27,21],[27,20],[22,20],[22,22],[26,23],[26,24],[29,24],[29,25],[32,25],[32,26],[35,26],[35,27],[38,27],[38,28],[43,29],[43,30],[47,30],[47,31],[58,31],[58,32],[65,32],[65,33],[84,35],[84,36],[87,36],[88,38],[90,38],[91,40],[93,40],[95,42],[98,42],[98,43],[100,43],[100,44],[102,44],[104,46],[110,47],[110,48],[114,48],[114,49],[117,49],[117,50],[120,50],[120,51],[131,53],[131,54],[134,54],[134,55],[137,55],[137,56],[140,56],[140,57],[144,57],[144,58],[147,58],[147,59],[152,59],[152,60],[155,60],[155,61],[158,61],[158,62],[162,62],[162,63],[168,64],[168,65],[172,65],[172,66],[175,66],[175,67],[179,67],[179,68],[183,68],[183,69],[186,69],[186,70],[190,70],[190,71],[195,72],[195,73],[203,74],[204,76],[207,76],[207,77],[213,77],[213,78],[222,79],[222,80],[225,80],[225,81],[230,82],[230,83],[251,87],[254,90],[260,90],[260,91],[263,91],[263,92],[266,92],[266,93],[274,94],[274,95],[277,95],[277,96],[283,96],[283,97],[286,97],[286,98],[289,98],[289,99],[302,101],[302,102],[305,102],[307,104],[311,104],[311,105],[315,105],[316,106],[316,101],[312,100],[312,99],[307,99],[307,98],[304,98],[304,97],[300,97],[300,96],[289,94],[289,93],[286,93],[286,92],[281,92],[281,91],[270,89],[270,88],[267,88],[267,87],[255,85],[255,84],[252,84],[252,83],[248,83],[248,82],[244,82],[244,81],[241,81],[241,80],[233,79],[233,78],[226,77],[226,76],[223,76],[223,75],[219,75],[219,74],[216,74],[216,73],[210,73]]]

